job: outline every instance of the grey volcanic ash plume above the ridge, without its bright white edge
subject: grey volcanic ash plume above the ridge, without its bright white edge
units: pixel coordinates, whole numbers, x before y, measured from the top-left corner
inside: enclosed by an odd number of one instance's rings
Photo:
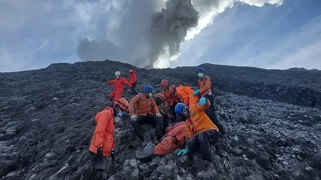
[[[152,68],[166,50],[169,55],[180,52],[187,30],[196,27],[199,18],[191,0],[168,0],[158,12],[155,8],[161,2],[157,0],[127,3],[122,8],[125,14],[116,16],[120,23],[109,31],[114,44],[83,39],[77,47],[83,61],[111,58]]]

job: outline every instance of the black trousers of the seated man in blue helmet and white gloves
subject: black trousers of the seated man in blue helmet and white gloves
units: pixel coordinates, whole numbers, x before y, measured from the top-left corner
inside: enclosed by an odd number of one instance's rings
[[[140,138],[142,138],[144,135],[141,127],[143,124],[150,124],[152,127],[155,127],[155,136],[161,135],[163,130],[163,118],[157,117],[155,114],[147,113],[146,116],[137,115],[136,121],[130,120],[130,123],[132,124],[135,133]]]

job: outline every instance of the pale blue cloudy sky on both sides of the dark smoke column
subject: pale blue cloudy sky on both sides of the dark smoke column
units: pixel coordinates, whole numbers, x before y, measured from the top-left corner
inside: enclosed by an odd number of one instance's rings
[[[321,1],[284,0],[277,6],[273,1],[282,0],[240,0],[247,4],[236,2],[230,8],[232,1],[195,3],[201,15],[221,13],[193,39],[181,43],[178,59],[159,59],[157,67],[209,62],[321,70]],[[270,4],[257,7],[260,2]],[[248,5],[251,3],[257,6]],[[80,45],[80,54],[86,52],[81,54],[83,60],[107,56],[143,66],[150,53],[146,34],[151,14],[163,6],[161,0],[34,0],[32,4],[28,0],[3,0],[0,72],[81,61],[77,54]],[[95,40],[79,44],[83,37]]]

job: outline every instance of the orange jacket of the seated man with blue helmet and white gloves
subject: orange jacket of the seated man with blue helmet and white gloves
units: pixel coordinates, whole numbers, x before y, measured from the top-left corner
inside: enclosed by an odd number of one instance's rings
[[[153,98],[147,98],[142,93],[137,94],[129,102],[129,115],[134,115],[134,106],[136,105],[136,115],[146,116],[147,113],[159,113],[158,107]]]

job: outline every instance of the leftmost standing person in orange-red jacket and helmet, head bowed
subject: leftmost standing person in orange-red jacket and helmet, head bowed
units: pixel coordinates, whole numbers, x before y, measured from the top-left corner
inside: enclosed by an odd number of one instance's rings
[[[89,147],[91,177],[94,180],[107,178],[107,157],[111,156],[112,163],[115,160],[113,136],[115,124],[128,109],[128,102],[120,98],[115,102],[114,107],[106,107],[95,116],[96,128]]]

